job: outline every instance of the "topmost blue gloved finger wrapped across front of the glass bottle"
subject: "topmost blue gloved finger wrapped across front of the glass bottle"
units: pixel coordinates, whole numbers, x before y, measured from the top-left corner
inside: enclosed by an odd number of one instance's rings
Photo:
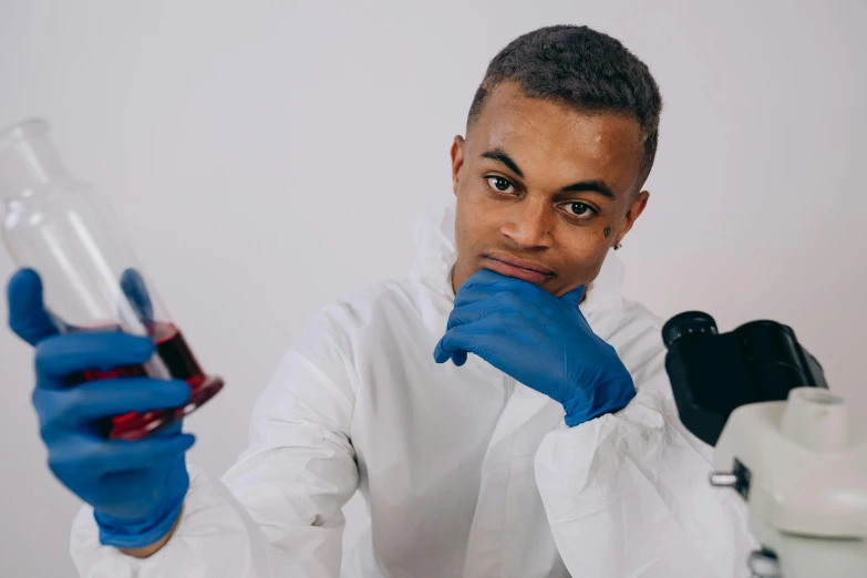
[[[79,371],[144,363],[154,349],[152,340],[120,331],[54,336],[37,345],[37,386],[60,386],[59,378]]]

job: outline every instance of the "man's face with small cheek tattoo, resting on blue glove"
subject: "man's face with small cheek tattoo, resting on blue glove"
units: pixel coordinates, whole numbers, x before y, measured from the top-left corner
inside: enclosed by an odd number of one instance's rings
[[[528,99],[515,84],[488,94],[452,145],[455,291],[479,269],[557,297],[592,281],[647,204],[634,193],[640,134],[632,118]]]

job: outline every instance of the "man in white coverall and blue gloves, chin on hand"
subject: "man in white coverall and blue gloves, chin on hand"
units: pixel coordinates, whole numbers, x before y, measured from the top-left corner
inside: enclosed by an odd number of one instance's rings
[[[708,486],[660,322],[622,299],[612,252],[648,203],[660,109],[647,66],[605,34],[550,27],[506,47],[452,145],[456,203],[419,229],[412,275],[316,318],[221,481],[185,467],[179,427],[95,433],[107,415],[183,405],[186,384],[62,388],[153,344],[53,336],[39,278],[19,272],[10,322],[38,347],[51,467],[93,506],[73,529],[81,574],[740,575],[743,509]],[[365,531],[342,551],[357,491]]]

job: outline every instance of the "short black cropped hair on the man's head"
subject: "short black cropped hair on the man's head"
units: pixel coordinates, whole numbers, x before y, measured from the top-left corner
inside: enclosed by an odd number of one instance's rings
[[[540,28],[516,38],[491,61],[469,107],[467,132],[487,95],[507,82],[531,99],[638,121],[644,140],[638,186],[643,185],[657,155],[662,96],[647,64],[619,40],[576,25]]]

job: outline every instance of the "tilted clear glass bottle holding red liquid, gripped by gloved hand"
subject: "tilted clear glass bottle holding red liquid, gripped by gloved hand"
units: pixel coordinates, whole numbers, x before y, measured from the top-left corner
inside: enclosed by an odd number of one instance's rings
[[[110,437],[137,440],[199,407],[223,388],[223,380],[202,371],[146,281],[111,207],[66,173],[49,130],[44,121],[31,120],[0,132],[3,242],[17,265],[42,278],[45,307],[59,331],[124,331],[156,343],[156,353],[141,367],[94,368],[75,381],[149,375],[189,383],[184,407],[112,417]]]

